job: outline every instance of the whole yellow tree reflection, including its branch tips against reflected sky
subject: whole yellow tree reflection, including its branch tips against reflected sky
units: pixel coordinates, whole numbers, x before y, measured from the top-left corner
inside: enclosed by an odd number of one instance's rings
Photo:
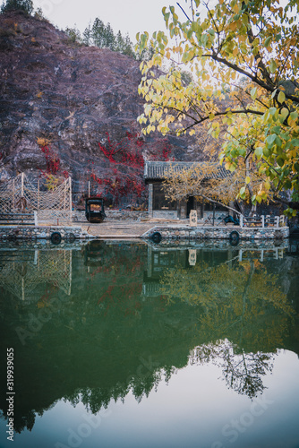
[[[201,306],[199,332],[215,340],[194,350],[192,362],[212,361],[222,368],[226,385],[255,397],[264,389],[261,377],[272,370],[272,357],[286,338],[294,310],[278,287],[278,277],[269,274],[258,260],[226,262],[192,271],[165,271],[161,280],[168,303],[179,298]],[[223,340],[223,335],[236,344]],[[261,351],[262,350],[262,351]]]

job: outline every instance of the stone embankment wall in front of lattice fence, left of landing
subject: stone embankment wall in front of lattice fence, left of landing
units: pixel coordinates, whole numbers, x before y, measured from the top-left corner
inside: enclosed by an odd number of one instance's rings
[[[49,226],[49,227],[34,227],[34,226],[0,226],[0,239],[50,239],[51,235],[59,232],[62,239],[87,239],[90,236],[86,231],[79,226],[65,227],[65,226]]]

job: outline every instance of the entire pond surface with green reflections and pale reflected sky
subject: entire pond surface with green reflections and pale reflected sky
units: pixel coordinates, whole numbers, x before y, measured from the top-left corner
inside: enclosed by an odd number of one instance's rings
[[[298,254],[1,243],[0,447],[298,447]]]

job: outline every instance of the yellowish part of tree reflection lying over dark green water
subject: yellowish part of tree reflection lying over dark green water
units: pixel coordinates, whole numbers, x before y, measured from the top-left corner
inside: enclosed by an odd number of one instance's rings
[[[180,299],[201,306],[200,331],[207,340],[216,332],[240,347],[250,340],[257,350],[262,345],[272,351],[282,343],[294,314],[278,287],[278,277],[258,260],[214,267],[202,262],[192,271],[167,270],[160,282],[168,303]]]

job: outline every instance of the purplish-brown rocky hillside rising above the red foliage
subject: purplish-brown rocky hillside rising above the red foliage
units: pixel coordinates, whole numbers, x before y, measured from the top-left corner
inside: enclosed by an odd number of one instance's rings
[[[38,177],[47,168],[38,139],[46,139],[73,189],[86,192],[90,168],[98,177],[109,168],[98,142],[141,134],[141,73],[128,56],[83,47],[50,23],[13,12],[0,15],[0,64],[0,180],[21,171]],[[154,148],[161,138],[146,143]],[[190,137],[168,143],[171,157],[190,154]]]

